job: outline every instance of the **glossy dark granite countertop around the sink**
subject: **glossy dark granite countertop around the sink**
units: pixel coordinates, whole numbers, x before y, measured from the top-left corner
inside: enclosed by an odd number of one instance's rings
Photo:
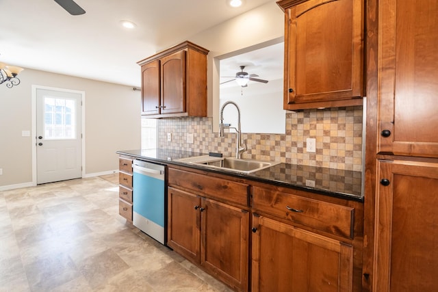
[[[271,183],[281,187],[313,191],[326,196],[363,202],[361,172],[279,163],[270,168],[265,168],[251,174],[244,174],[216,168],[205,168],[202,165],[176,161],[177,159],[181,158],[206,155],[205,153],[201,152],[168,149],[120,150],[116,152],[120,155],[128,155],[155,163],[183,165],[190,168],[248,178],[253,181]],[[307,186],[306,180],[315,181],[315,186]]]

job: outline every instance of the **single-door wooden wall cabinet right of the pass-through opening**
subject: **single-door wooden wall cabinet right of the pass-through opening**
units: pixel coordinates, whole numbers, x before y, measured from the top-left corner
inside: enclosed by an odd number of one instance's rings
[[[363,1],[282,0],[284,109],[363,103]]]

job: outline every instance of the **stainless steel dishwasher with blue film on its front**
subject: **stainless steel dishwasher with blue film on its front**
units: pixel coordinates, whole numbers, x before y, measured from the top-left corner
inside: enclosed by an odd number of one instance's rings
[[[133,225],[165,244],[164,165],[134,159]]]

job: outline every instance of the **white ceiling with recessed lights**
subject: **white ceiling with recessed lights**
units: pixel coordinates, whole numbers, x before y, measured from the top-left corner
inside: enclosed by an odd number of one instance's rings
[[[241,8],[225,0],[75,1],[86,14],[71,16],[53,0],[0,0],[0,62],[140,87],[140,59],[274,0]]]

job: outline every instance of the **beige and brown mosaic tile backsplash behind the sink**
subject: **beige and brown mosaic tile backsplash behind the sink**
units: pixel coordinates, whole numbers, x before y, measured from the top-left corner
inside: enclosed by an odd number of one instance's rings
[[[222,152],[235,156],[237,135],[233,130],[219,137],[212,118],[158,120],[158,146],[173,150]],[[337,107],[287,111],[285,135],[242,133],[248,150],[242,158],[279,161],[338,170],[362,170],[363,108]],[[167,141],[172,133],[172,142]],[[187,143],[192,133],[194,143]],[[306,151],[306,139],[316,139],[316,152]]]

